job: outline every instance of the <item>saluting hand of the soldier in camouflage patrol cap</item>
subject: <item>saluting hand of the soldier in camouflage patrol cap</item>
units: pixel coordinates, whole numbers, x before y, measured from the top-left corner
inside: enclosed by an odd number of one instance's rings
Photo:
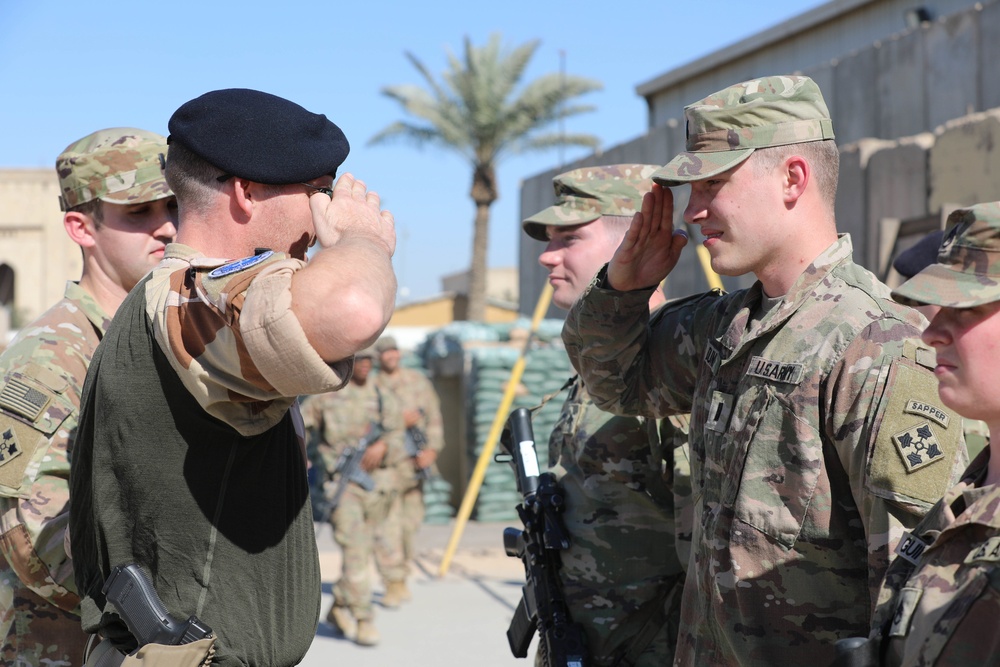
[[[658,285],[677,266],[685,245],[687,232],[674,230],[673,193],[654,183],[611,258],[608,283],[623,292]]]

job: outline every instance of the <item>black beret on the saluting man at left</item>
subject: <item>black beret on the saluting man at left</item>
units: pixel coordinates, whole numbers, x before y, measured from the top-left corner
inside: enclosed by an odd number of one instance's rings
[[[169,142],[227,174],[269,185],[335,175],[351,150],[326,116],[247,88],[214,90],[185,102],[167,129]]]

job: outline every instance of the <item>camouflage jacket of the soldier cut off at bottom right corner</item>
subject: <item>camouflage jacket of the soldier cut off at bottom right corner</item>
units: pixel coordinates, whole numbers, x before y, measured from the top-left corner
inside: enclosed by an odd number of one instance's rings
[[[888,665],[988,665],[1000,655],[1000,487],[987,449],[900,541],[875,613]]]

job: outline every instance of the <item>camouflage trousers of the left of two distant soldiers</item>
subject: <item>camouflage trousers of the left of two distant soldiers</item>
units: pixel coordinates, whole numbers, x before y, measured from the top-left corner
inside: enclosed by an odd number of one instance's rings
[[[385,521],[395,496],[395,490],[376,487],[374,491],[365,491],[349,484],[330,517],[333,537],[343,554],[340,581],[333,587],[334,604],[349,608],[358,620],[374,616],[375,532]]]

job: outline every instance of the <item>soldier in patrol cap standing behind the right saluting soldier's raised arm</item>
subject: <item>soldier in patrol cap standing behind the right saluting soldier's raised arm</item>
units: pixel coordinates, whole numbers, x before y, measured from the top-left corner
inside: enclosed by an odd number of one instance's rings
[[[569,309],[614,254],[657,168],[584,167],[555,178],[556,204],[525,220],[524,231],[548,243],[538,261],[557,306]],[[647,301],[654,310],[664,297],[655,290]],[[579,377],[570,386],[549,440],[549,468],[566,500],[570,537],[559,577],[595,667],[673,658],[684,582],[678,554],[688,551],[675,549],[673,448],[686,435],[684,416],[662,424],[615,416],[593,404]],[[681,452],[678,463],[686,460]]]

